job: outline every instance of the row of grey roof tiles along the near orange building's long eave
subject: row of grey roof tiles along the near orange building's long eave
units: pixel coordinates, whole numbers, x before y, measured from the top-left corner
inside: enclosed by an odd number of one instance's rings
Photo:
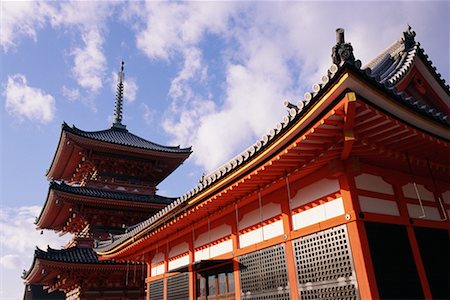
[[[395,47],[391,47],[394,49]],[[390,49],[390,48],[389,48]],[[405,60],[406,62],[406,60]],[[370,65],[370,64],[369,64]],[[383,59],[376,60],[372,66],[374,68],[381,69],[381,65],[383,65]],[[403,65],[397,64],[397,68],[401,68]],[[160,219],[163,219],[166,215],[168,215],[172,211],[181,210],[185,205],[187,205],[188,200],[205,190],[213,186],[216,182],[223,179],[224,177],[231,174],[236,169],[245,165],[248,161],[251,160],[254,156],[262,152],[265,148],[268,147],[273,141],[275,141],[281,133],[285,132],[288,128],[290,128],[294,123],[296,123],[305,113],[309,110],[309,108],[317,102],[322,94],[328,90],[328,88],[334,84],[334,79],[339,78],[339,75],[343,72],[344,69],[351,69],[357,73],[359,73],[363,78],[367,79],[372,84],[378,86],[381,90],[390,94],[392,98],[396,99],[398,102],[403,105],[411,108],[418,113],[425,115],[435,121],[442,123],[446,126],[450,126],[450,116],[443,114],[442,112],[438,112],[433,108],[428,107],[414,98],[408,96],[404,92],[397,92],[395,87],[387,82],[387,76],[381,78],[378,74],[373,74],[370,67],[366,66],[364,69],[361,69],[361,61],[355,60],[352,62],[342,61],[341,64],[335,65],[332,64],[329,68],[327,75],[322,76],[322,82],[313,85],[312,92],[306,92],[304,94],[304,99],[299,100],[297,105],[285,102],[286,107],[288,108],[288,114],[283,118],[283,121],[276,124],[275,128],[271,129],[268,134],[264,135],[260,140],[258,140],[255,144],[244,150],[241,154],[235,156],[228,163],[224,164],[214,172],[203,176],[200,180],[200,183],[194,187],[192,190],[188,191],[183,196],[179,197],[176,201],[172,202],[170,205],[164,207],[155,215],[150,217],[149,219],[137,224],[127,233],[116,235],[110,241],[103,241],[98,245],[96,251],[105,252],[113,249],[117,245],[125,242],[126,240],[132,238],[136,234],[150,227],[152,224],[157,222]],[[397,70],[399,71],[399,70]],[[396,70],[391,70],[389,74],[397,73]],[[387,74],[387,72],[384,72]]]

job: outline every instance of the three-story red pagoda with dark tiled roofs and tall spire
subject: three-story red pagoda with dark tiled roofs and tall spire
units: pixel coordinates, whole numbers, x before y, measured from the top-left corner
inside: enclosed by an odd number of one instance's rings
[[[62,291],[65,299],[144,297],[144,265],[99,261],[93,247],[172,203],[174,198],[157,195],[157,186],[191,149],[158,145],[122,124],[123,66],[122,62],[111,128],[83,131],[62,125],[36,227],[73,234],[73,239],[64,249],[36,249],[23,275],[27,299],[38,298],[33,291],[42,294],[36,285],[49,297]]]

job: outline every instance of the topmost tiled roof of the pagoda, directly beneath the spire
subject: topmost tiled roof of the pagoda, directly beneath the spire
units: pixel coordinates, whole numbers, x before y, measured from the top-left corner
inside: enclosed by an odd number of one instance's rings
[[[147,141],[137,135],[130,133],[127,129],[117,128],[115,126],[110,129],[100,130],[100,131],[83,131],[78,129],[73,125],[70,127],[67,123],[63,123],[63,130],[76,134],[81,137],[85,137],[92,140],[97,140],[106,143],[112,143],[117,145],[123,145],[128,147],[146,149],[146,150],[154,150],[160,152],[171,152],[171,153],[190,153],[191,148],[180,148],[176,147],[168,147],[158,145],[156,143]]]

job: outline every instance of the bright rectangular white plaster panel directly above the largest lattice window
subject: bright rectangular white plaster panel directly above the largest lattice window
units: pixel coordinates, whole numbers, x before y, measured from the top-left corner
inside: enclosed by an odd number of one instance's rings
[[[327,195],[327,194],[326,194]],[[322,205],[299,212],[292,216],[294,230],[322,222],[345,213],[342,198],[336,198]]]

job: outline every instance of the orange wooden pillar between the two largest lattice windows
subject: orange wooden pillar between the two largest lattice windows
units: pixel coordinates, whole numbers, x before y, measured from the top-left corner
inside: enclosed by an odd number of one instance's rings
[[[297,279],[297,269],[295,264],[294,249],[291,241],[291,231],[292,231],[292,217],[291,217],[291,206],[290,198],[291,191],[289,187],[289,179],[286,177],[286,192],[287,195],[281,200],[281,217],[283,220],[283,230],[284,236],[286,238],[285,242],[285,253],[286,253],[286,266],[289,279],[289,288],[291,292],[292,300],[299,300],[298,293],[298,279]]]

